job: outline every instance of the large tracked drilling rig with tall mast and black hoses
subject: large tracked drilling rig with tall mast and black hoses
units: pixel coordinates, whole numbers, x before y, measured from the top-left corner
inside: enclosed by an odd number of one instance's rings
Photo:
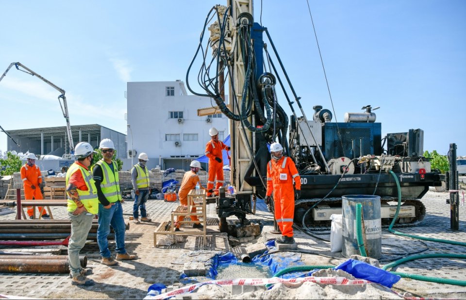
[[[208,24],[209,20],[215,21]],[[194,87],[190,74],[199,64],[199,86]],[[229,216],[236,216],[240,226],[247,225],[246,216],[253,213],[251,201],[264,199],[272,142],[283,145],[284,155],[295,161],[300,172],[301,199],[295,201],[294,222],[305,228],[328,227],[330,215],[341,214],[341,197],[349,194],[381,196],[382,222],[390,222],[396,207],[390,202],[398,194],[389,171],[398,177],[403,195],[397,223],[416,224],[425,215],[419,199],[430,186],[445,181],[445,175],[432,170],[430,161],[422,157],[423,130],[382,138],[382,125],[373,112],[378,108],[364,106],[362,112],[346,113],[345,122],[336,123],[330,110],[315,105],[309,119],[271,34],[253,20],[252,0],[229,0],[227,6],[211,9],[188,67],[186,85],[193,94],[216,103],[198,115],[223,113],[230,119],[235,194],[220,189],[216,197],[222,232],[228,229]],[[283,105],[289,106],[290,117]]]

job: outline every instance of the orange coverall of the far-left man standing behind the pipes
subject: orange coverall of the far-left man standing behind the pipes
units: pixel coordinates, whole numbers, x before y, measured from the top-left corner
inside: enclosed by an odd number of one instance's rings
[[[40,185],[42,184],[42,175],[40,174],[40,169],[37,167],[37,165],[33,165],[30,167],[28,163],[26,162],[24,166],[21,167],[21,179],[23,180],[23,185],[24,185],[24,199],[25,200],[42,200],[44,199],[42,197],[42,193],[40,191]],[[35,186],[35,189],[32,189],[31,187]],[[42,207],[39,206],[39,212],[41,211]],[[34,213],[34,208],[33,206],[28,206],[28,215],[30,217],[33,216]],[[47,212],[44,211],[42,212],[42,216],[46,215]]]

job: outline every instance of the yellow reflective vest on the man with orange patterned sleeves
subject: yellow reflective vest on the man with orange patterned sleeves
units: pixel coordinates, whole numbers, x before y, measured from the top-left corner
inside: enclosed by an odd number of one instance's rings
[[[99,198],[97,196],[95,181],[92,178],[92,175],[89,173],[89,171],[87,171],[77,163],[73,163],[69,167],[69,170],[67,172],[67,186],[69,177],[71,177],[72,174],[78,171],[80,171],[83,175],[84,183],[87,187],[87,190],[77,189],[79,200],[83,203],[84,207],[88,212],[95,215],[99,212]],[[68,196],[67,211],[74,211],[77,207],[78,206],[76,205],[76,203]]]

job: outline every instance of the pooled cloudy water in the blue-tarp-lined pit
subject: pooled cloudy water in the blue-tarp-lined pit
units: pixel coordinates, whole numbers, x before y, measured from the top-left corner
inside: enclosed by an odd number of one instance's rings
[[[220,266],[217,268],[217,272],[215,279],[270,278],[273,276],[267,267],[245,263]]]

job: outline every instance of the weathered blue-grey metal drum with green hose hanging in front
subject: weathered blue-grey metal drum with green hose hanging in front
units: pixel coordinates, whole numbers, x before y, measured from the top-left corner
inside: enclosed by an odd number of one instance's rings
[[[362,205],[361,222],[363,237],[366,236],[365,247],[367,256],[379,259],[382,256],[382,222],[380,219],[380,196],[347,195],[343,196],[342,205],[342,255],[361,255],[356,235],[356,204]]]

